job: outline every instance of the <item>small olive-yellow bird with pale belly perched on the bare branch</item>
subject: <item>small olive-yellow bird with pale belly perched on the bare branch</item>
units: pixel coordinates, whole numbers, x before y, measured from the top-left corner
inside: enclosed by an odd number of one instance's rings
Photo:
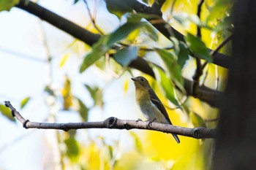
[[[168,117],[167,111],[154,93],[154,90],[148,83],[145,77],[135,77],[132,78],[135,84],[135,97],[136,102],[140,107],[141,112],[144,117],[150,122],[164,123],[168,125],[173,125]],[[172,134],[176,142],[179,144],[180,140],[176,134]]]

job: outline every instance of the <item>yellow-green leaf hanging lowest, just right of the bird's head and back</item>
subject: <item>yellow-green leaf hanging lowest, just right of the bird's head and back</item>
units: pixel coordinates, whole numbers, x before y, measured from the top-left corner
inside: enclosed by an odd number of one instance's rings
[[[163,90],[165,91],[165,96],[170,102],[175,104],[177,107],[180,105],[175,97],[174,85],[170,79],[166,76],[165,72],[162,69],[159,69],[157,66],[153,67],[154,73],[158,76],[157,79],[160,79]]]

